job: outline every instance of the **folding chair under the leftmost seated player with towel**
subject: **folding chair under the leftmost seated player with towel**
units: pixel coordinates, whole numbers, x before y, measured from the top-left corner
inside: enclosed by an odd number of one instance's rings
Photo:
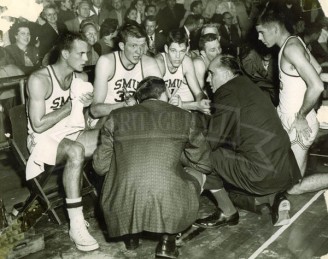
[[[29,152],[26,146],[27,116],[25,104],[13,107],[9,111],[9,117],[12,124],[12,138],[10,139],[10,146],[19,163],[25,169],[27,159],[29,157]],[[44,211],[47,212],[49,217],[54,222],[57,222],[59,225],[61,224],[61,220],[59,219],[55,208],[63,205],[64,195],[60,191],[58,185],[53,188],[49,188],[49,186],[46,186],[55,168],[56,166],[46,166],[45,172],[27,181],[30,195],[24,202],[23,208],[19,210],[19,214],[28,211],[28,209],[32,206],[33,202],[37,199],[39,204],[42,206]],[[97,199],[97,192],[92,186],[89,179],[87,178],[85,172],[83,172],[83,187],[81,193],[82,196],[86,194],[91,194],[93,198]]]

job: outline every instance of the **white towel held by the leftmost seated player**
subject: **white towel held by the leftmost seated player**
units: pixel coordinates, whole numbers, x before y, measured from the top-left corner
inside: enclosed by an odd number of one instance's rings
[[[83,115],[83,103],[80,97],[83,94],[93,92],[93,86],[89,82],[83,81],[81,78],[75,78],[70,89],[70,97],[72,100],[72,110],[69,115],[66,126],[73,128],[85,128],[85,120]]]

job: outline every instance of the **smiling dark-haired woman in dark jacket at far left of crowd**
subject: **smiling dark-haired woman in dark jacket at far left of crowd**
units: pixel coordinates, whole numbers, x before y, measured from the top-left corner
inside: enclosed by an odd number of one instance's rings
[[[28,23],[15,23],[11,28],[14,35],[12,44],[5,48],[8,62],[18,66],[26,75],[29,75],[41,65],[39,50],[30,45],[31,34]]]

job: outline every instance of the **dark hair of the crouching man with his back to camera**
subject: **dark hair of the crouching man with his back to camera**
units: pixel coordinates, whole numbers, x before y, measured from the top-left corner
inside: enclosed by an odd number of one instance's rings
[[[159,99],[166,91],[165,82],[162,78],[149,76],[144,78],[137,87],[135,97],[139,103],[148,99]]]

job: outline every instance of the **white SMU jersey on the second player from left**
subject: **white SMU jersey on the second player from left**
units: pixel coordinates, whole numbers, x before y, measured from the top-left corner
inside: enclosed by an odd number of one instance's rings
[[[107,96],[104,103],[118,103],[124,101],[124,92],[133,95],[137,90],[139,82],[144,78],[142,61],[133,68],[124,67],[119,52],[113,53],[115,59],[115,70],[113,77],[108,80]]]

